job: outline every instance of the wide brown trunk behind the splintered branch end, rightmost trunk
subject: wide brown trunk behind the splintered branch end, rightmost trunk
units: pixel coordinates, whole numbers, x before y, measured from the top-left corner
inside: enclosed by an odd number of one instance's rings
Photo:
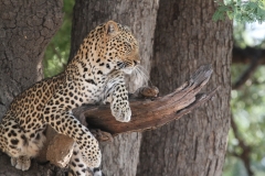
[[[232,22],[213,22],[214,2],[160,1],[151,81],[172,91],[200,65],[212,64],[213,101],[187,118],[142,134],[138,176],[220,176],[230,128]],[[177,76],[176,76],[177,75]]]

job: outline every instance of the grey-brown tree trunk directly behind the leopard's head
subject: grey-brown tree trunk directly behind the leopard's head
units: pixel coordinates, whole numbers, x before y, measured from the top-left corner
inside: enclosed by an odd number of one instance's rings
[[[114,20],[131,29],[140,45],[141,65],[148,73],[157,9],[156,0],[76,0],[70,58],[92,29]],[[130,91],[142,85],[135,78],[130,78],[129,82]],[[116,136],[113,143],[102,143],[103,172],[108,176],[136,175],[140,140],[141,134],[134,132]]]

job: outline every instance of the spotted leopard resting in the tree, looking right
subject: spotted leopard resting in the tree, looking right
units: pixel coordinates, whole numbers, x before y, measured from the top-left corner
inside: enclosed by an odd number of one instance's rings
[[[99,175],[99,143],[72,110],[109,103],[117,121],[129,122],[125,76],[139,64],[138,42],[128,26],[110,20],[92,30],[63,73],[38,81],[10,103],[0,122],[0,148],[11,157],[11,165],[30,168],[50,125],[75,142],[68,175],[86,175],[89,168]]]

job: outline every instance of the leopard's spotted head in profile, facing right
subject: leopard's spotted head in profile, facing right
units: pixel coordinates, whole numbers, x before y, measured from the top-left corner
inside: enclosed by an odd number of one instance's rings
[[[91,32],[88,38],[94,62],[104,65],[104,73],[119,69],[131,74],[140,63],[138,43],[127,26],[108,21]]]

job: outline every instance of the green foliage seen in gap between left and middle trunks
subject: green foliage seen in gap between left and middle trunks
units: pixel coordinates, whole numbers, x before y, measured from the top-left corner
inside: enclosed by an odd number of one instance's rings
[[[57,75],[67,64],[71,46],[72,13],[74,0],[64,0],[64,20],[44,54],[44,77]]]

